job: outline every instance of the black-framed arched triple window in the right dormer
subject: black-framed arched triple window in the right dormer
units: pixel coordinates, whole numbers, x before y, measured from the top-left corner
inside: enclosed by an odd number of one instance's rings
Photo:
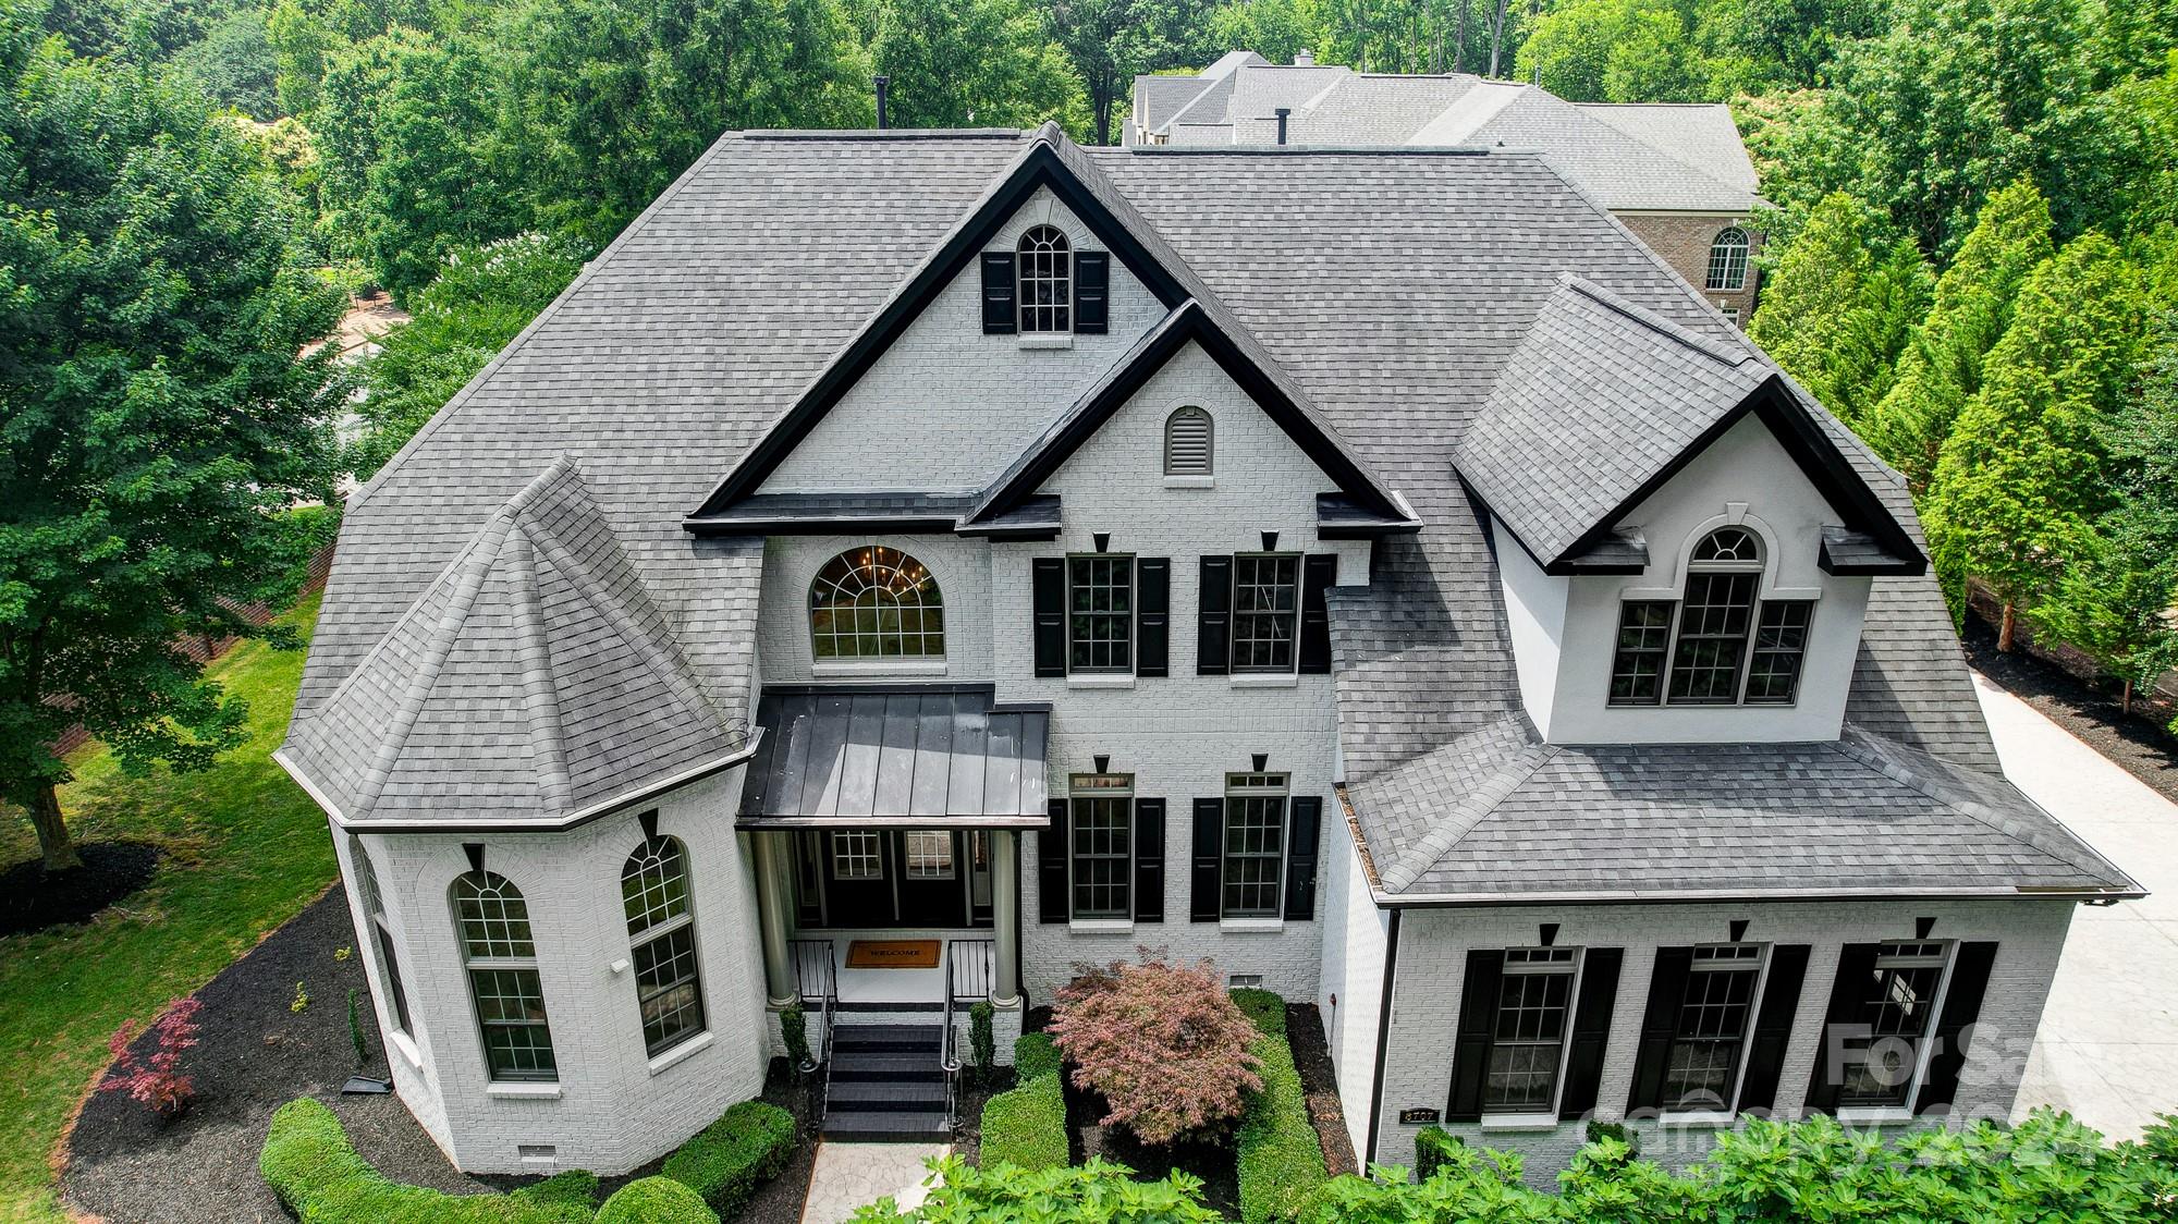
[[[1790,706],[1808,653],[1806,599],[1760,599],[1762,542],[1718,527],[1686,560],[1684,599],[1618,608],[1612,706]]]

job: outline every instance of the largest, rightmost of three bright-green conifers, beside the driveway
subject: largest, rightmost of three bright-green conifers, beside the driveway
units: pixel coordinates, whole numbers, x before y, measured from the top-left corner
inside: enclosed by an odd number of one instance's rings
[[[2106,438],[2139,353],[2139,272],[2102,235],[2087,235],[2028,274],[1982,390],[1943,442],[1928,534],[1954,608],[1978,577],[2015,610],[2080,555],[2110,507]]]

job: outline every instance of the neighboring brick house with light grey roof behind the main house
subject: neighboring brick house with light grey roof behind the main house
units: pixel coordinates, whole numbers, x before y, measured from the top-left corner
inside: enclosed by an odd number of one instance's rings
[[[1122,144],[1540,150],[1725,318],[1745,327],[1755,309],[1762,235],[1749,213],[1762,198],[1721,102],[1568,102],[1464,72],[1394,76],[1235,50],[1196,76],[1137,76]]]

